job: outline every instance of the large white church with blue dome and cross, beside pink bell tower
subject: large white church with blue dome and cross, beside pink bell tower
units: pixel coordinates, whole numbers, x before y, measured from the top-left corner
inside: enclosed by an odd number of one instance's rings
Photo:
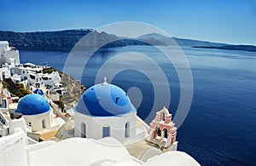
[[[74,115],[75,136],[96,140],[111,136],[122,143],[137,137],[136,108],[125,91],[107,83],[106,77],[104,83],[82,94]],[[143,137],[144,133],[140,135]]]

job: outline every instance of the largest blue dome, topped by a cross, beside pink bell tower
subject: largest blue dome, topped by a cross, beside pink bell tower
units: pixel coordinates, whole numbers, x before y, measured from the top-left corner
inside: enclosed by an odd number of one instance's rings
[[[82,94],[75,112],[90,116],[122,116],[136,112],[123,89],[108,84],[96,84]]]

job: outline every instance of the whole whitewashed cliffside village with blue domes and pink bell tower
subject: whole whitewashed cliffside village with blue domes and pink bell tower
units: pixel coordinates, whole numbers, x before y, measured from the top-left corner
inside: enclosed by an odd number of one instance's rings
[[[20,64],[8,42],[0,42],[0,55],[0,165],[199,165],[177,152],[177,128],[166,107],[148,125],[105,77],[78,93],[66,112],[61,99],[68,89],[59,72]],[[9,91],[16,85],[24,96]]]

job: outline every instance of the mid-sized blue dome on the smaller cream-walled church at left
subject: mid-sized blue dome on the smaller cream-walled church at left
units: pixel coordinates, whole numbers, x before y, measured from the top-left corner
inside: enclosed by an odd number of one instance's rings
[[[22,97],[18,108],[15,112],[20,112],[23,115],[37,115],[44,112],[49,112],[51,107],[48,100],[40,94],[27,94]]]

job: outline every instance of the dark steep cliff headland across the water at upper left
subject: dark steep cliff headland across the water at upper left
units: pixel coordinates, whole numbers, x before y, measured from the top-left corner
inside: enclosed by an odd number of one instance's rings
[[[9,41],[9,45],[19,50],[70,51],[74,44],[88,33],[90,33],[90,40],[84,41],[86,47],[94,47],[106,40],[119,40],[119,37],[108,35],[105,32],[82,29],[36,32],[0,31],[0,41]],[[120,47],[123,45],[122,42],[116,41],[108,43],[105,47]]]

